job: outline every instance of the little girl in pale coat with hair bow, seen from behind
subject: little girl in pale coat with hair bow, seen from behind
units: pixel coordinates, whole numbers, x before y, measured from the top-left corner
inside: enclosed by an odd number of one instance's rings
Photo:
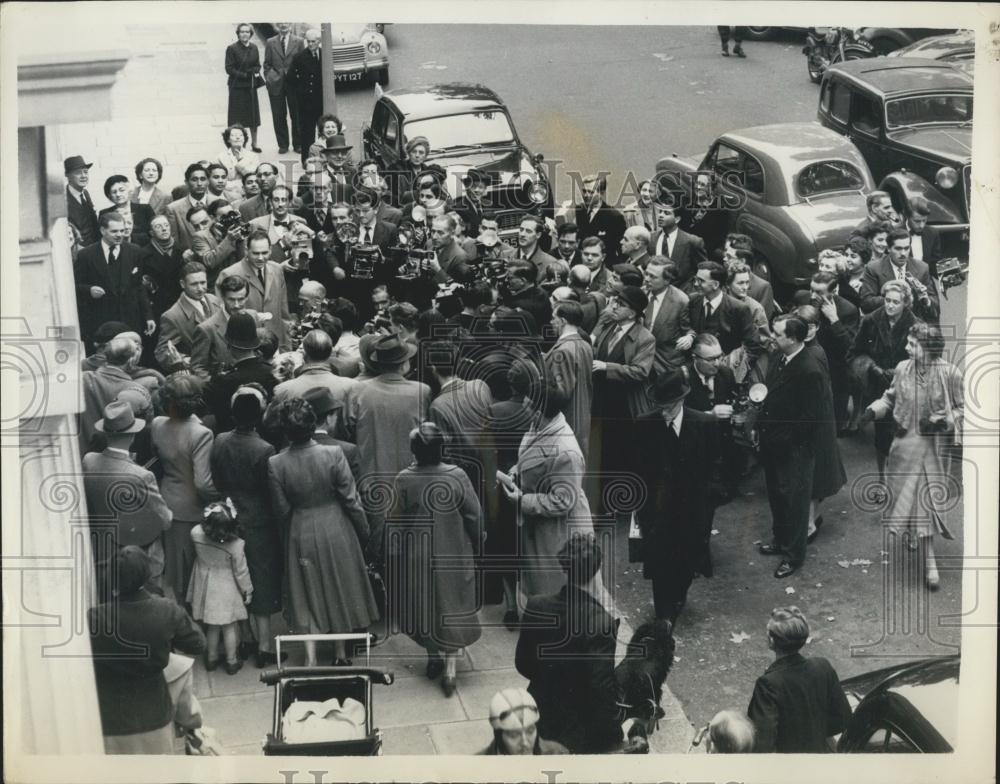
[[[235,675],[243,666],[236,653],[237,621],[246,620],[246,605],[253,597],[244,542],[236,523],[236,507],[226,503],[205,508],[201,525],[191,531],[194,570],[188,584],[191,615],[208,627],[205,669],[219,666],[219,633],[226,649],[226,672]]]

